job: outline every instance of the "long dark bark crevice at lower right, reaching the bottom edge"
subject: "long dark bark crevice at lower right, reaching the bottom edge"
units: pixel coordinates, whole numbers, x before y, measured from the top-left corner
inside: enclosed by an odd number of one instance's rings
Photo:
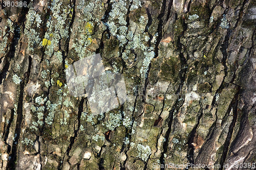
[[[221,167],[219,168],[219,170],[222,170],[223,167],[224,167],[224,163],[225,163],[227,153],[228,153],[228,150],[229,150],[229,146],[230,146],[231,137],[232,137],[232,134],[233,134],[233,131],[234,131],[234,126],[236,125],[236,122],[237,122],[238,99],[239,99],[240,87],[238,87],[237,90],[238,90],[238,92],[234,95],[234,98],[233,98],[233,100],[230,104],[230,106],[233,108],[233,119],[232,119],[232,122],[229,126],[229,130],[228,130],[228,133],[227,133],[226,140],[223,144],[224,147],[223,147],[223,152],[222,152],[221,159],[220,159]],[[230,109],[228,109],[228,112],[231,111],[231,107],[230,107]]]

